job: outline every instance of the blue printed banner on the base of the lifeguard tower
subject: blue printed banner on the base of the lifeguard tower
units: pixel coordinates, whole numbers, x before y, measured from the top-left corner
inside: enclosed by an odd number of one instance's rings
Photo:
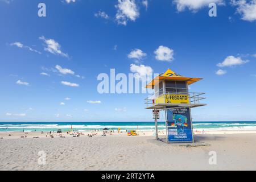
[[[167,110],[168,142],[193,142],[190,109]]]

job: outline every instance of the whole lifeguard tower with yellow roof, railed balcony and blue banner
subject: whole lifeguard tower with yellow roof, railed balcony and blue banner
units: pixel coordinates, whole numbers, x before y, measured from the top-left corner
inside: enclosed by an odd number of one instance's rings
[[[154,89],[154,94],[147,97],[146,109],[152,109],[155,119],[155,136],[158,137],[159,111],[164,110],[166,117],[167,143],[192,143],[193,126],[191,108],[205,106],[200,103],[204,93],[189,93],[188,86],[202,80],[181,76],[171,69],[155,77],[146,88]]]

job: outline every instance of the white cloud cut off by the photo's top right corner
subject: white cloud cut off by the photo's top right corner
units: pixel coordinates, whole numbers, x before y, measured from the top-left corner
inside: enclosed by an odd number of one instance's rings
[[[256,0],[251,0],[250,2],[246,0],[232,0],[231,4],[237,7],[237,13],[242,15],[243,20],[253,22],[256,20]]]

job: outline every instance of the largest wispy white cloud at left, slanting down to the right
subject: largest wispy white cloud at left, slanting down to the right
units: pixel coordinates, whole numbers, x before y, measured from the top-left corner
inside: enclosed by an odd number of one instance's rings
[[[44,47],[44,51],[51,52],[54,55],[61,55],[64,57],[69,57],[67,53],[64,53],[60,50],[61,46],[53,39],[46,39],[44,36],[39,37],[40,40],[43,40],[46,43],[47,47]]]

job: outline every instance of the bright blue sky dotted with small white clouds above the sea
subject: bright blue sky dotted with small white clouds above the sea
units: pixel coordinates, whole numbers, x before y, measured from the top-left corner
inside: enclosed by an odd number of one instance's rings
[[[256,1],[0,0],[0,22],[0,121],[152,121],[147,94],[97,92],[131,67],[204,78],[193,121],[256,121]]]

